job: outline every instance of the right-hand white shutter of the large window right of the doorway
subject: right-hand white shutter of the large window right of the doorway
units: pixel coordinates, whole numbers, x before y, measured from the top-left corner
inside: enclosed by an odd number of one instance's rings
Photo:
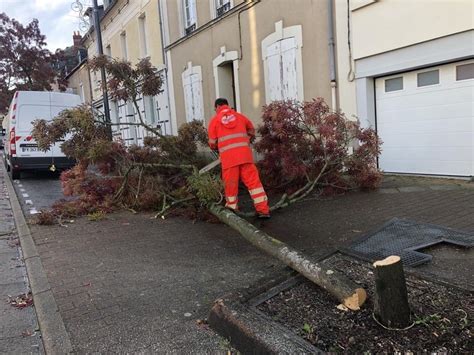
[[[286,38],[281,43],[282,97],[283,100],[298,98],[298,77],[296,73],[296,39]]]

